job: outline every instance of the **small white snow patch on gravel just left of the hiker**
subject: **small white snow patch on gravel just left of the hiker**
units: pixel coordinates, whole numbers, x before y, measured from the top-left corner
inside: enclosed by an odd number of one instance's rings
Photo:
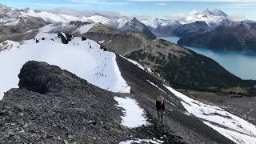
[[[146,122],[145,112],[142,108],[138,106],[138,102],[136,102],[132,98],[118,98],[114,97],[114,99],[118,102],[118,106],[122,107],[124,110],[124,116],[122,116],[122,126],[126,126],[128,128],[136,128],[143,125],[149,125]]]

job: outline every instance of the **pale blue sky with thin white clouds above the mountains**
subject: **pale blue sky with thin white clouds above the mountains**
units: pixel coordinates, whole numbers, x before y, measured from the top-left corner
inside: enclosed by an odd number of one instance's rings
[[[76,10],[118,11],[134,16],[168,18],[170,14],[202,12],[216,8],[226,14],[239,15],[242,19],[256,20],[256,0],[0,0],[9,7],[38,10],[70,8]]]

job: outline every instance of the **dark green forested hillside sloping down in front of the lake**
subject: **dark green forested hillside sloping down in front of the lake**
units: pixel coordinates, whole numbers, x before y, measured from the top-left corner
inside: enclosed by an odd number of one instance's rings
[[[255,81],[243,81],[230,74],[217,62],[201,54],[194,53],[180,59],[169,55],[168,58],[170,62],[164,66],[164,71],[167,74],[167,80],[176,88],[217,92],[221,89],[228,90],[230,87],[238,86],[251,88],[256,83]],[[251,95],[255,91],[251,90],[251,93],[246,93],[246,90],[242,88],[236,94]],[[222,92],[228,93],[228,91]]]

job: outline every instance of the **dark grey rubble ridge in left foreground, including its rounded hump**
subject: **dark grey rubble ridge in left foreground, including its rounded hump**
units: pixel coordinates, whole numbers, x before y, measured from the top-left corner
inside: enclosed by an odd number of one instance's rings
[[[102,90],[45,62],[27,62],[18,77],[20,89],[9,90],[0,101],[2,143],[102,144],[160,139],[164,134],[167,143],[182,143],[182,138],[154,126],[134,130],[121,126],[122,110],[114,96],[132,94]]]

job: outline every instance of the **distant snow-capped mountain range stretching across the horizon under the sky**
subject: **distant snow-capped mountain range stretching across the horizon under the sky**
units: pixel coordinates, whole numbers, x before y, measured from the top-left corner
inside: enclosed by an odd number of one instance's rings
[[[159,36],[181,37],[180,45],[199,46],[213,50],[254,50],[256,47],[254,21],[233,22],[228,15],[217,9],[206,9],[202,13],[191,12],[184,18],[140,19],[128,17],[107,18],[102,15],[77,17],[54,14],[39,10],[18,10],[0,4],[0,42],[24,32],[30,32],[52,22],[102,23],[114,30],[146,34],[150,38]],[[11,35],[10,35],[11,34]],[[31,38],[34,35],[29,35]],[[216,41],[218,44],[216,44]],[[221,42],[223,41],[223,42]],[[213,44],[214,43],[214,44]]]

